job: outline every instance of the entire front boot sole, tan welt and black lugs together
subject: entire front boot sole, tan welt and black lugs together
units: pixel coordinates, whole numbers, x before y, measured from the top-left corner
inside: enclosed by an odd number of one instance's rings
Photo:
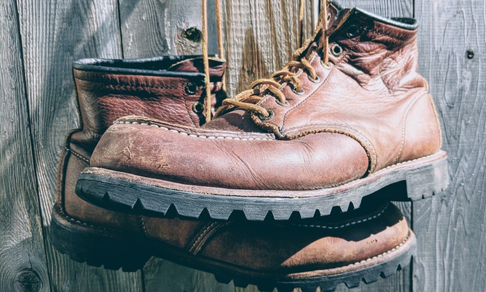
[[[368,195],[387,201],[416,201],[440,193],[449,184],[447,154],[400,163],[340,186],[312,191],[230,190],[190,186],[133,174],[87,168],[76,185],[79,197],[97,206],[151,217],[175,214],[227,220],[235,212],[248,220],[306,219],[333,209],[358,208]],[[241,217],[241,215],[238,215]]]

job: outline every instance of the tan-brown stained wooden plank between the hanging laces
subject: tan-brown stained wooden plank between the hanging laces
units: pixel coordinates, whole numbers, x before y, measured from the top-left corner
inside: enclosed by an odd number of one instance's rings
[[[309,36],[313,30],[311,1],[306,4]],[[298,1],[228,1],[225,17],[227,91],[233,96],[290,61],[298,42]]]

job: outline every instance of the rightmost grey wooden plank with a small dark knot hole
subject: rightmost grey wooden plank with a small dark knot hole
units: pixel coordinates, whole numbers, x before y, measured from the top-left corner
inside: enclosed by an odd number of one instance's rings
[[[486,5],[416,0],[415,7],[420,72],[438,108],[451,184],[440,196],[414,203],[413,290],[484,291]]]

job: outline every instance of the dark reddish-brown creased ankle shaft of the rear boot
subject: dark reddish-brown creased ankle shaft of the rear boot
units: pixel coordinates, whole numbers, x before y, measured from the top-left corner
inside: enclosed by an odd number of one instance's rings
[[[200,127],[204,123],[204,115],[195,113],[192,106],[195,102],[204,101],[201,64],[201,58],[171,63],[168,69],[162,70],[165,75],[157,75],[160,71],[156,70],[137,74],[128,69],[123,72],[123,68],[117,68],[116,72],[73,69],[83,130],[73,134],[72,139],[93,149],[113,121],[130,114]],[[210,65],[214,107],[225,97],[221,91],[225,63],[211,60]],[[189,84],[197,86],[194,93],[186,91]]]

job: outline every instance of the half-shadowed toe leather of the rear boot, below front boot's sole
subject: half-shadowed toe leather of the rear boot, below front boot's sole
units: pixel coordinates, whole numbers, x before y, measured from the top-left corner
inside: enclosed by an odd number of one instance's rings
[[[352,213],[348,215],[341,226],[359,219]],[[315,227],[329,226],[330,221],[323,217],[304,223],[313,227],[231,222],[207,241],[200,255],[257,271],[299,273],[383,254],[403,242],[409,233],[406,220],[392,204],[377,219],[349,228]]]

